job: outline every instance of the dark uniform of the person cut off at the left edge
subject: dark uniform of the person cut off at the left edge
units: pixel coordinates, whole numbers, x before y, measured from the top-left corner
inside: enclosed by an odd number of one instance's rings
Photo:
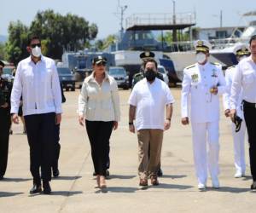
[[[0,77],[0,179],[3,179],[8,161],[11,89],[12,82]],[[8,107],[1,107],[6,103]]]

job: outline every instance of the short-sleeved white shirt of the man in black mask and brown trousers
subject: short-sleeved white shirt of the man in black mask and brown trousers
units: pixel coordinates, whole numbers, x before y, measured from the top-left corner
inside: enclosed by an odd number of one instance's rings
[[[172,93],[165,82],[146,78],[135,84],[128,103],[136,107],[136,129],[164,130],[165,107],[174,103]]]

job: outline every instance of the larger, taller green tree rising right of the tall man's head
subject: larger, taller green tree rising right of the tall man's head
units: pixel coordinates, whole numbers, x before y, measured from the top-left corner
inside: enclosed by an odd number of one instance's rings
[[[53,10],[38,12],[32,21],[30,32],[37,34],[47,43],[49,57],[61,59],[63,50],[84,49],[86,43],[97,35],[97,26],[89,25],[84,18],[74,14],[55,14]]]

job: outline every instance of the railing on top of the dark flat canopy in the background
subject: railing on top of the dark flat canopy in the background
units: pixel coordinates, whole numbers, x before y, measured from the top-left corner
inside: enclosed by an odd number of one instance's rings
[[[194,25],[194,13],[178,14],[132,14],[126,18],[126,29],[140,25]]]

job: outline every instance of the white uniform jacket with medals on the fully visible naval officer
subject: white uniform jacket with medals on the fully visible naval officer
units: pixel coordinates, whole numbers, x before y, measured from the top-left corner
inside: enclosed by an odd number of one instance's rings
[[[226,83],[221,66],[207,62],[196,63],[183,71],[183,89],[181,97],[182,118],[190,117],[191,122],[205,123],[218,121],[219,97],[210,93],[212,87],[218,87],[218,95],[223,95]]]

